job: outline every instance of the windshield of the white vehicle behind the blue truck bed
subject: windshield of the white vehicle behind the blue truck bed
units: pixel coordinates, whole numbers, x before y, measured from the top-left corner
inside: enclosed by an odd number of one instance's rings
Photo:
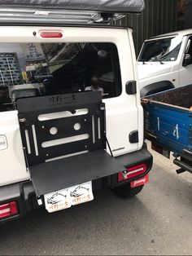
[[[181,40],[177,36],[146,41],[138,61],[175,61],[181,48]]]

